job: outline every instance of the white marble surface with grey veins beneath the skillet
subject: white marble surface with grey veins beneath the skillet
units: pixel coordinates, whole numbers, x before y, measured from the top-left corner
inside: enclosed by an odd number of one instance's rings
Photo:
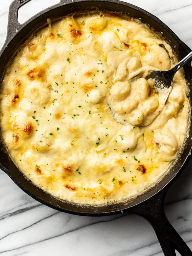
[[[0,48],[6,37],[11,1],[0,1]],[[20,9],[19,20],[57,2],[33,0]],[[192,0],[129,2],[156,15],[192,49]],[[165,206],[168,219],[190,249],[191,167],[192,161],[170,188]],[[0,170],[0,255],[162,256],[163,252],[152,227],[141,217],[81,217],[58,212],[26,195]]]

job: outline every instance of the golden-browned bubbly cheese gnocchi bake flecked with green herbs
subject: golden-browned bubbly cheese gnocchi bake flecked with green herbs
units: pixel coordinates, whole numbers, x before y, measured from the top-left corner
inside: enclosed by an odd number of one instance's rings
[[[177,156],[190,107],[181,71],[166,104],[142,74],[176,61],[139,20],[107,12],[48,20],[2,82],[1,130],[12,160],[36,186],[73,203],[143,193]]]

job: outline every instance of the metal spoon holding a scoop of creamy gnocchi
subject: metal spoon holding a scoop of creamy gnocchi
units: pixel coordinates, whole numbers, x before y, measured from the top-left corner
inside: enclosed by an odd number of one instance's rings
[[[150,71],[130,81],[118,81],[110,89],[108,96],[108,104],[115,120],[124,125],[150,125],[164,108],[172,91],[175,73],[191,59],[192,52],[170,70]]]

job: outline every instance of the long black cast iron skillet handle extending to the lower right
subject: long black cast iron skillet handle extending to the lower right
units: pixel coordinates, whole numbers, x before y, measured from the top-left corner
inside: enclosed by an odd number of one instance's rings
[[[177,250],[181,256],[192,256],[188,245],[172,227],[164,212],[164,198],[167,189],[163,189],[147,201],[138,204],[128,212],[135,213],[148,220],[156,232],[165,256],[176,256]]]

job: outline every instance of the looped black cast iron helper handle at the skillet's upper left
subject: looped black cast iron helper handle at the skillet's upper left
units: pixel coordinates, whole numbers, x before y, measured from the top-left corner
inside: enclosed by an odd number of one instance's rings
[[[6,41],[11,40],[17,32],[23,27],[17,21],[19,8],[31,0],[14,0],[9,6],[9,16],[7,25],[7,38]]]

